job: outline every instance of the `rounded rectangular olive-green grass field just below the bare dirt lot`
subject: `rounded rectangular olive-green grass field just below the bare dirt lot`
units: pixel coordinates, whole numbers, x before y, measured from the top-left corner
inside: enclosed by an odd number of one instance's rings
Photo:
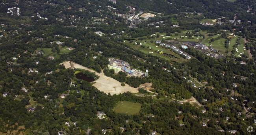
[[[141,110],[141,104],[128,101],[119,101],[114,107],[116,113],[135,115]]]

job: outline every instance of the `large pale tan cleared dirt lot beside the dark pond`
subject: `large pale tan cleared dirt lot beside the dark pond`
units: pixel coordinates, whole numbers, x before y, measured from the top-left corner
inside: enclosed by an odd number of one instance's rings
[[[65,68],[80,68],[85,69],[90,72],[95,72],[94,70],[91,70],[87,67],[83,67],[82,65],[79,65],[77,63],[74,63],[72,61],[66,61],[63,63],[60,63],[60,65],[63,64]],[[95,72],[97,76],[100,76],[98,80],[95,80],[93,86],[96,87],[98,90],[103,91],[104,93],[111,95],[113,94],[120,94],[124,92],[131,92],[131,93],[137,93],[139,92],[137,88],[130,87],[128,84],[125,84],[125,86],[121,86],[121,83],[111,77],[105,76],[103,71],[101,73]]]

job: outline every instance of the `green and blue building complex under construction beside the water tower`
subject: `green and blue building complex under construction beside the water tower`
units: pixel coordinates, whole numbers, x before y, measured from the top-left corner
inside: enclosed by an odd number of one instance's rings
[[[109,59],[108,69],[113,69],[115,73],[123,71],[130,76],[141,76],[144,74],[144,72],[140,72],[140,70],[130,68],[130,64],[128,62],[115,58]]]

